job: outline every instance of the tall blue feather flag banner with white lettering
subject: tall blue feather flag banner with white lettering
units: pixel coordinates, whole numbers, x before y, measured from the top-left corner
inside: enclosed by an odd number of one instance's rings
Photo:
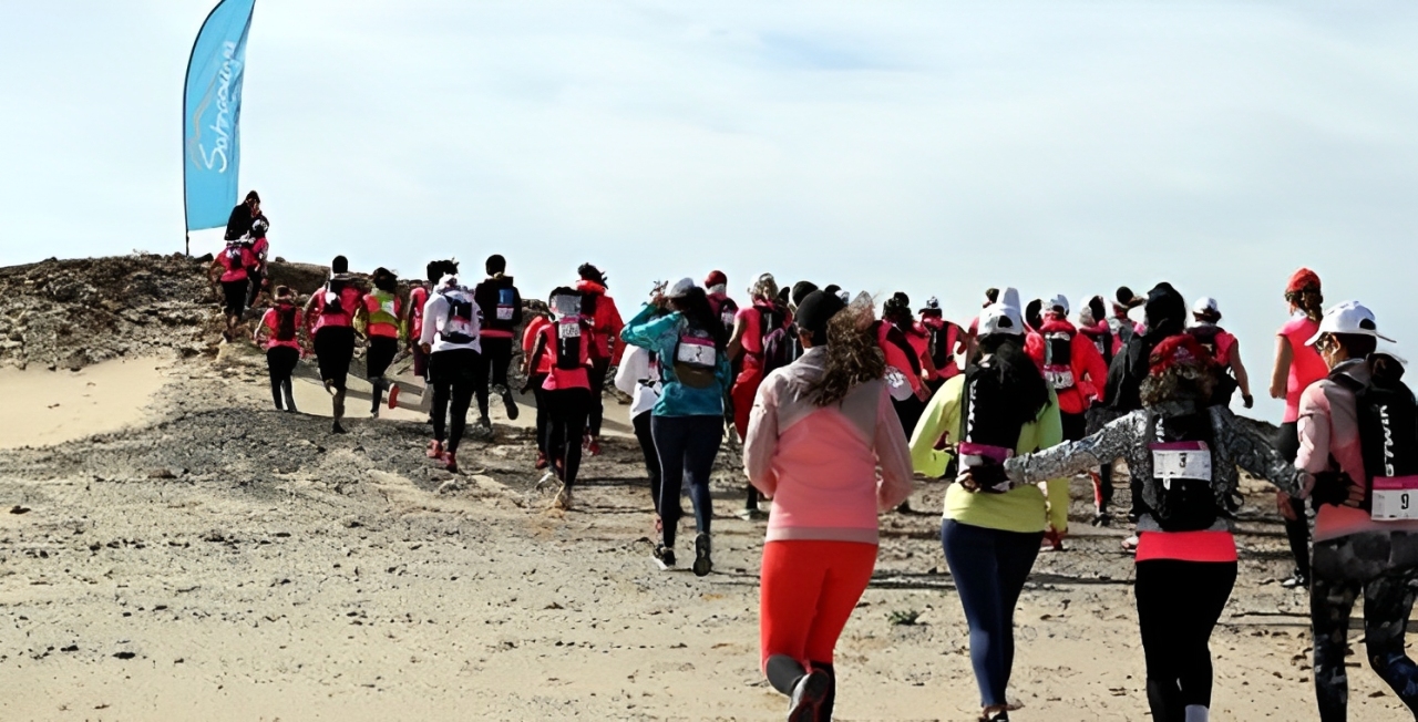
[[[187,61],[183,88],[183,186],[187,230],[227,224],[241,167],[241,79],[255,0],[221,0]]]

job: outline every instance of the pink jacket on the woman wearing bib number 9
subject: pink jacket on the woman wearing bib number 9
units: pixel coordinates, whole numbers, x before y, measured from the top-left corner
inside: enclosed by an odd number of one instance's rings
[[[1368,382],[1368,366],[1351,360],[1336,367],[1354,380]],[[1330,468],[1330,457],[1339,471],[1351,479],[1367,479],[1364,454],[1358,444],[1358,414],[1354,391],[1329,379],[1320,380],[1300,394],[1300,451],[1295,467],[1309,472]],[[1418,532],[1418,522],[1375,522],[1364,509],[1351,506],[1320,506],[1314,516],[1314,540],[1324,542],[1358,532]]]

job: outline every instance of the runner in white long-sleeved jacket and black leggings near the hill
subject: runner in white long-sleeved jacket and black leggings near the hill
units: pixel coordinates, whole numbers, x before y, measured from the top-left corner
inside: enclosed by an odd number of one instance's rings
[[[428,264],[428,271],[430,278],[438,275],[438,284],[424,305],[424,329],[418,338],[428,355],[428,379],[434,387],[434,440],[428,443],[428,458],[442,461],[448,471],[457,474],[458,444],[482,369],[478,339],[482,313],[472,291],[458,282],[458,261],[434,261]]]

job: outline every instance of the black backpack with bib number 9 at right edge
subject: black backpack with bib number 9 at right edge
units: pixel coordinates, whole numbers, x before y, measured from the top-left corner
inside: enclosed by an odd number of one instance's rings
[[[1377,362],[1377,369],[1375,369]],[[1354,393],[1358,445],[1364,458],[1364,502],[1375,521],[1418,519],[1418,407],[1402,382],[1402,366],[1370,356],[1367,384],[1344,373],[1330,380]]]

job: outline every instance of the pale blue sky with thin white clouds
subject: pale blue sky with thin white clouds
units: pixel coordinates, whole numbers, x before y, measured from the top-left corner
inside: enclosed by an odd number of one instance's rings
[[[0,265],[183,250],[211,4],[6,3]],[[258,0],[241,187],[275,255],[501,252],[527,296],[591,261],[627,315],[713,268],[960,322],[987,287],[1170,281],[1275,420],[1295,268],[1418,348],[1414,37],[1411,3]]]

